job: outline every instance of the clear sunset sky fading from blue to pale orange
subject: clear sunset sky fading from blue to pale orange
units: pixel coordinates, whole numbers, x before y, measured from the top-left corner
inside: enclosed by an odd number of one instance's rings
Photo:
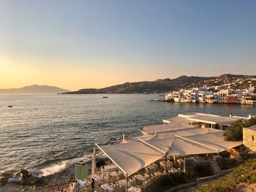
[[[0,0],[0,88],[256,74],[256,1]]]

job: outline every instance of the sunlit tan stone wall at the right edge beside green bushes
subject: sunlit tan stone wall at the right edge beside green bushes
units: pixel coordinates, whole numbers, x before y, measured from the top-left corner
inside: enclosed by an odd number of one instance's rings
[[[254,140],[252,140],[254,137]],[[243,128],[243,143],[244,146],[256,152],[256,130],[251,128]]]

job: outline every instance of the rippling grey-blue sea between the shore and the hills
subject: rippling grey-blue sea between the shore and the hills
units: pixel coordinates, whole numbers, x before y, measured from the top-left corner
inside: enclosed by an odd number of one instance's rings
[[[119,139],[177,113],[256,114],[252,106],[156,102],[160,97],[154,94],[102,96],[1,95],[0,172],[40,170],[78,158],[91,153],[94,142]]]

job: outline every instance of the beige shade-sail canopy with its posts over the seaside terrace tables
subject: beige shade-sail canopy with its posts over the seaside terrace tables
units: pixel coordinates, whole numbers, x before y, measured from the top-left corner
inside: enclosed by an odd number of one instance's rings
[[[165,173],[167,155],[197,155],[219,153],[233,147],[242,145],[242,142],[226,142],[222,137],[224,131],[212,128],[187,128],[181,130],[167,131],[165,134],[150,135],[150,139],[142,134],[136,140],[128,140],[116,145],[99,146],[94,145],[92,158],[92,175],[96,169],[96,150],[97,148],[110,158],[113,164],[126,178],[126,191],[128,177],[140,169],[165,158]],[[169,134],[167,134],[169,133]],[[136,135],[138,136],[138,135]],[[185,162],[185,161],[184,161]],[[185,164],[184,164],[185,166]]]

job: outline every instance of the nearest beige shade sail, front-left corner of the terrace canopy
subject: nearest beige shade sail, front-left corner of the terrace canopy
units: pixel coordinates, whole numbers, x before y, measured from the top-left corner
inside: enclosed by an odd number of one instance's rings
[[[128,177],[164,156],[158,150],[148,147],[143,142],[105,145],[101,149],[127,173]]]

